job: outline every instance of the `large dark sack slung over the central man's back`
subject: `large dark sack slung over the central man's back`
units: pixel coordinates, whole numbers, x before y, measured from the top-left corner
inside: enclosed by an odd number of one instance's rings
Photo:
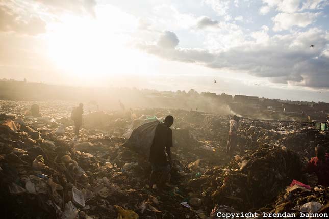
[[[130,138],[123,144],[123,146],[148,157],[156,133],[156,128],[159,124],[160,122],[157,120],[135,128]]]

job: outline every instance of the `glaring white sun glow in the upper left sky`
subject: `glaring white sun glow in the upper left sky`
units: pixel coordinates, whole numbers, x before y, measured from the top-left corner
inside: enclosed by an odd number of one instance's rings
[[[126,34],[136,28],[137,19],[111,6],[95,10],[96,18],[66,15],[61,22],[49,24],[50,60],[63,72],[86,79],[140,69],[145,62],[129,46],[131,34]]]

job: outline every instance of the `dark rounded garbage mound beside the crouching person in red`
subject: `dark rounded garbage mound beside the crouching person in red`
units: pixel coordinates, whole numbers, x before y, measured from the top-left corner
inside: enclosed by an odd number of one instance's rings
[[[235,171],[224,174],[212,198],[216,204],[240,211],[271,203],[287,184],[301,177],[298,154],[277,147],[259,148],[231,165]]]

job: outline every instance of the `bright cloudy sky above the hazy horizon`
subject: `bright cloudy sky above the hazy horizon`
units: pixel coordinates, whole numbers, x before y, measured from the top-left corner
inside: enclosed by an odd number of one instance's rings
[[[329,102],[328,16],[329,0],[0,0],[0,78]]]

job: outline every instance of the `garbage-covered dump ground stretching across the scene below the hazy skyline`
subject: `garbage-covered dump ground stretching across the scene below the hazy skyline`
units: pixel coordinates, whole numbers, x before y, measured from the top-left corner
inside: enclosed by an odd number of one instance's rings
[[[290,187],[293,180],[316,184],[301,173],[302,166],[315,146],[329,149],[327,132],[313,123],[243,118],[230,159],[226,116],[159,108],[129,115],[86,110],[74,139],[67,110],[74,103],[0,103],[2,218],[203,219],[215,208],[260,215],[328,209],[328,188]],[[25,114],[32,104],[40,106],[41,117]],[[137,127],[168,114],[175,118],[173,167],[168,188],[159,191],[148,187],[145,156],[123,145]]]

